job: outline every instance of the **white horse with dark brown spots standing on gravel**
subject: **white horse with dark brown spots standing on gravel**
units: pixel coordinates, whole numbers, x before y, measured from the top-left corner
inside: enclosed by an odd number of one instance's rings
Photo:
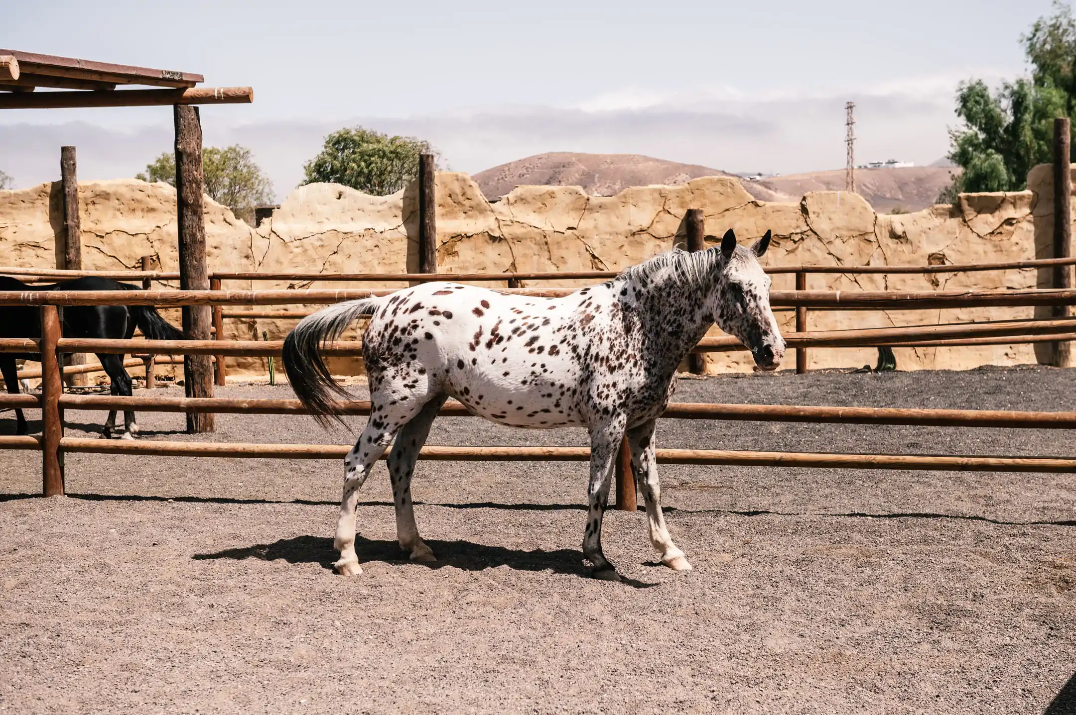
[[[492,421],[548,429],[586,427],[591,435],[590,512],[583,555],[593,575],[619,580],[601,553],[601,516],[621,438],[627,437],[641,483],[650,541],[662,563],[691,564],[669,538],[661,510],[654,424],[676,385],[676,369],[716,321],[775,370],[784,340],[769,309],[769,277],[732,230],[720,247],[672,251],[565,298],[506,295],[453,283],[427,283],[382,298],[340,303],[305,318],[284,341],[295,394],[323,425],[339,419],[346,396],[318,353],[359,315],[371,414],[344,459],[336,569],[362,573],[355,554],[355,506],[370,469],[395,439],[388,473],[400,547],[431,561],[419,537],[410,494],[419,449],[448,397]]]

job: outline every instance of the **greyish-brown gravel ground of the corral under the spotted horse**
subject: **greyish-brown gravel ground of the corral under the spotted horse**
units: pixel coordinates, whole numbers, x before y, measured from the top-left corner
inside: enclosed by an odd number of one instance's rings
[[[723,376],[676,399],[1076,410],[1076,371]],[[103,414],[68,418],[77,435]],[[192,439],[183,415],[139,421]],[[308,417],[217,425],[351,441]],[[665,420],[659,446],[1072,455],[1066,437]],[[444,418],[429,443],[585,442]],[[586,577],[582,463],[420,462],[434,564],[402,560],[382,463],[344,578],[331,461],[70,455],[70,496],[45,500],[39,456],[2,460],[0,712],[1076,712],[1072,475],[664,467],[695,570],[655,564],[642,512],[609,512],[617,584]]]

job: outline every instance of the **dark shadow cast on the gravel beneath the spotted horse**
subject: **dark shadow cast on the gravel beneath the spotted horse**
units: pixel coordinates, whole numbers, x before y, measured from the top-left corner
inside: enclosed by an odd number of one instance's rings
[[[518,548],[506,548],[504,546],[476,544],[470,541],[427,540],[426,543],[434,549],[437,560],[428,563],[414,562],[415,566],[423,566],[429,569],[452,567],[463,571],[485,571],[486,569],[507,566],[516,571],[552,571],[553,573],[564,573],[580,577],[587,577],[590,575],[589,570],[583,566],[583,553],[575,548],[558,548],[552,552],[536,548],[526,552]],[[411,563],[410,559],[400,550],[399,544],[395,541],[376,541],[356,535],[355,550],[358,552],[358,559],[362,563],[371,561],[390,564]],[[212,554],[195,554],[192,558],[196,560],[242,560],[253,558],[264,561],[284,559],[288,563],[317,563],[323,569],[331,571],[332,562],[336,560],[336,550],[332,548],[331,539],[308,534],[292,539],[281,539],[271,544],[225,548]],[[622,578],[621,583],[634,588],[650,588],[657,585],[623,576]]]

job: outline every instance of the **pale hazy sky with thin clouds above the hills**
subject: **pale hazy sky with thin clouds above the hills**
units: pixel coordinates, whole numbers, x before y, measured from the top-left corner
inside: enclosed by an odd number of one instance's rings
[[[91,8],[91,10],[90,10]],[[551,151],[648,154],[728,171],[929,163],[953,92],[1027,72],[1020,34],[1049,0],[768,2],[18,2],[0,47],[200,72],[251,85],[202,108],[206,143],[242,143],[283,197],[325,133],[362,123],[430,140],[455,170]],[[0,113],[16,186],[130,176],[171,148],[170,108]]]

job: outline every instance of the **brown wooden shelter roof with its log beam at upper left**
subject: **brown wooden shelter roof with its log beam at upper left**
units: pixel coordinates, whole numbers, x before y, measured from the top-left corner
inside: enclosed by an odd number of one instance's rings
[[[196,87],[204,77],[178,70],[112,65],[0,49],[0,109],[229,104],[254,100],[250,87]],[[142,85],[155,89],[121,89]],[[39,87],[74,91],[37,92]]]

